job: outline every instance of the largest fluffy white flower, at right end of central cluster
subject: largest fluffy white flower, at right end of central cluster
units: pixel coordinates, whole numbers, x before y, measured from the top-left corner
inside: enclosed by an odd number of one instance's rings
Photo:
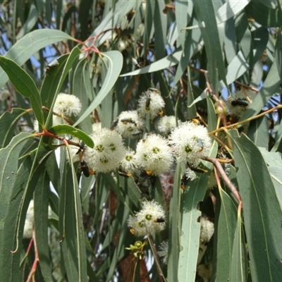
[[[212,140],[207,128],[191,121],[181,123],[172,131],[169,139],[171,147],[183,165],[187,163],[199,165],[200,158],[207,156],[212,149]]]

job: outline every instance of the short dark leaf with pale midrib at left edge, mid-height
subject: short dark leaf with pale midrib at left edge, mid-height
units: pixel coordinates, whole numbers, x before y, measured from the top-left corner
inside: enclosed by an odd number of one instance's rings
[[[12,111],[5,111],[0,116],[0,148],[6,147],[18,125],[18,120],[27,112],[25,109],[13,108]]]

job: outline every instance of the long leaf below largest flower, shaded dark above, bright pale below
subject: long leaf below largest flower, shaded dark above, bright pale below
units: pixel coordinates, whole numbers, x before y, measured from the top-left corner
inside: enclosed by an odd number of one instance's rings
[[[216,152],[217,143],[214,142],[209,157],[215,157]],[[197,206],[204,199],[209,175],[212,171],[210,162],[202,161],[202,163],[208,173],[203,173],[199,178],[193,180],[188,191],[185,191],[183,195],[178,281],[195,281],[200,243],[200,223],[198,223],[197,219],[201,215]]]

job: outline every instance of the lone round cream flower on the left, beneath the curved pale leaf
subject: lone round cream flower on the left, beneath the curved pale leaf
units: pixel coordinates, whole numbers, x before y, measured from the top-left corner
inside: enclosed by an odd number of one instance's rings
[[[60,93],[54,105],[54,112],[63,116],[78,116],[81,111],[81,103],[74,95]]]

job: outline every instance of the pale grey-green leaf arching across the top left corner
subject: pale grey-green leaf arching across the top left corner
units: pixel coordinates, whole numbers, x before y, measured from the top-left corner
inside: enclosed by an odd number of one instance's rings
[[[38,50],[62,40],[74,40],[74,38],[61,30],[35,30],[16,42],[4,56],[22,66]],[[0,87],[7,81],[8,75],[0,68]]]

